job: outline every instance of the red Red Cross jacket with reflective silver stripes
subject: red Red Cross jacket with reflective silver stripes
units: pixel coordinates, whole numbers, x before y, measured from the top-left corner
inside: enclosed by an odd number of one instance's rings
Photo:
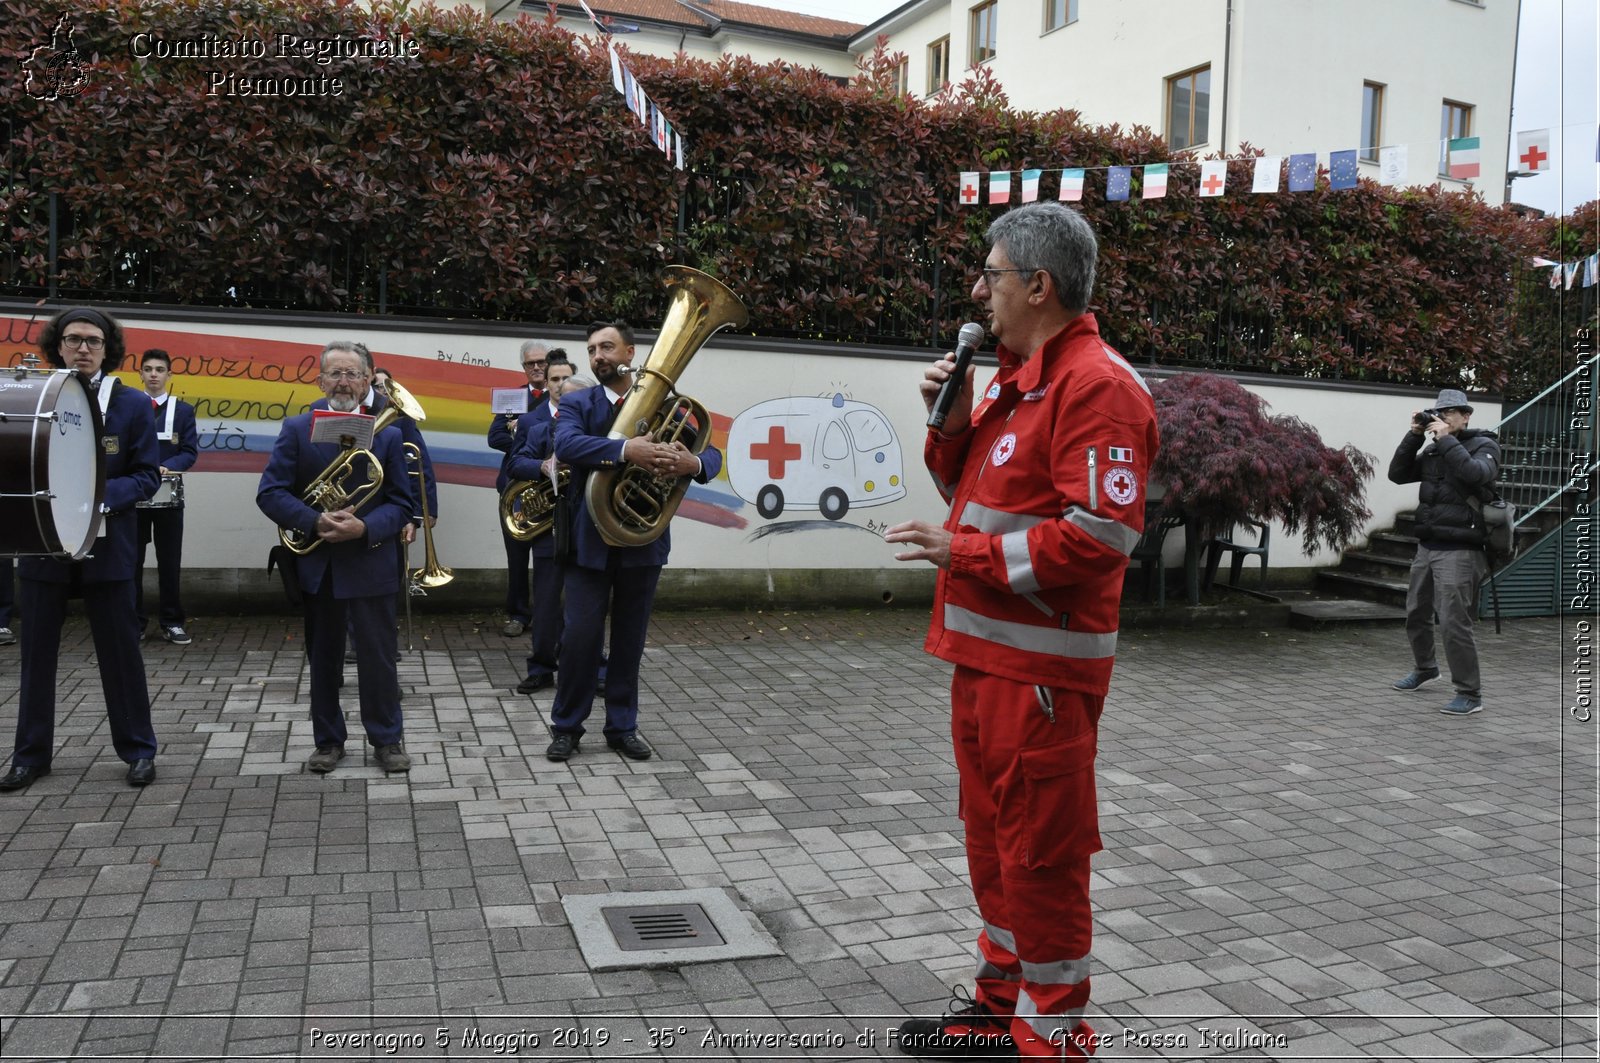
[[[928,434],[955,540],[926,650],[1104,696],[1158,445],[1150,389],[1083,314],[1027,360],[1002,346],[974,399],[971,429]]]

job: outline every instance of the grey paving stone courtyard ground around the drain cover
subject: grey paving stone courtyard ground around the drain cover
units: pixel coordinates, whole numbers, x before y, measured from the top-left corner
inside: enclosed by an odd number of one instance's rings
[[[146,644],[134,791],[82,620],[54,772],[0,794],[0,1058],[896,1057],[971,985],[917,610],[661,613],[632,762],[542,757],[498,624],[400,666],[410,778],[312,749],[299,626]],[[1573,621],[1480,628],[1488,709],[1389,690],[1398,629],[1131,631],[1101,727],[1102,1058],[1595,1058],[1597,725]],[[13,650],[0,650],[0,655]],[[0,676],[0,735],[16,716]],[[358,735],[352,684],[352,735]],[[718,887],[782,956],[590,972],[560,898]]]

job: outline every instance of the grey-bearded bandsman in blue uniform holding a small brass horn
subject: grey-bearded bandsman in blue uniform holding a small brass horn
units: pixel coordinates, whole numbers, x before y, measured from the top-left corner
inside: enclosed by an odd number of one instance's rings
[[[357,344],[334,341],[322,352],[317,384],[338,413],[354,413],[366,394],[370,375]],[[278,442],[256,491],[256,506],[280,528],[293,528],[322,544],[298,559],[296,578],[306,599],[306,652],[310,656],[310,720],[317,751],[310,772],[331,772],[344,759],[344,711],[339,680],[344,674],[344,631],[354,621],[362,725],[384,772],[410,772],[405,725],[400,716],[400,677],[395,672],[395,541],[411,520],[400,431],[386,427],[371,451],[382,466],[378,493],[354,509],[323,512],[302,501],[306,488],[341,453],[334,443],[310,442],[315,413],[283,423]],[[355,459],[352,483],[366,482],[366,459]]]

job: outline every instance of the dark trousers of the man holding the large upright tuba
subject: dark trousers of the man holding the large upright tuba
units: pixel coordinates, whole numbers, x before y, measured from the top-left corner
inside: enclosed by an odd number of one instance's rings
[[[605,733],[619,736],[638,727],[638,663],[645,656],[650,608],[656,600],[661,565],[622,568],[611,554],[606,568],[566,565],[566,631],[555,677],[552,728],[584,733],[595,696],[606,610],[611,612],[611,660],[605,682]]]

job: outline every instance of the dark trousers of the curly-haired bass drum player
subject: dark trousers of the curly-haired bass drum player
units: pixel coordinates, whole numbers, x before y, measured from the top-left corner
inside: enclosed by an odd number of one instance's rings
[[[56,748],[56,666],[67,620],[66,583],[21,581],[22,690],[16,712],[16,767],[48,765]],[[94,636],[110,744],[126,764],[155,757],[150,692],[144,684],[139,628],[133,618],[133,580],[85,583],[83,612]]]

